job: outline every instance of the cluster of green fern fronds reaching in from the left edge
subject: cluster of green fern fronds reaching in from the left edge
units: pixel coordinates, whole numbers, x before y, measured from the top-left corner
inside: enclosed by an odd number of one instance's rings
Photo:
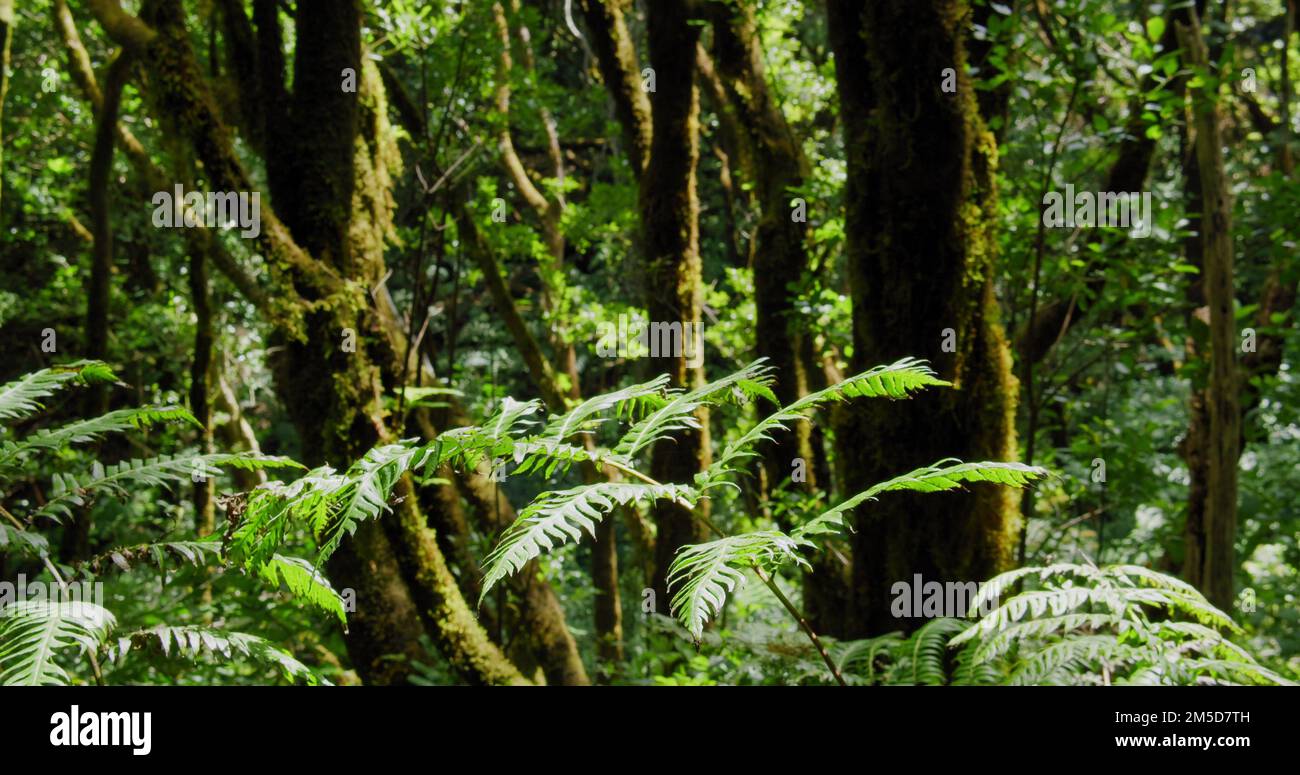
[[[0,419],[6,425],[30,420],[44,408],[43,399],[69,386],[114,380],[112,371],[98,361],[42,369],[0,388]],[[0,441],[0,485],[3,485],[0,489],[8,489],[13,479],[38,476],[48,455],[62,453],[75,445],[100,441],[105,436],[165,423],[196,425],[190,412],[183,408],[146,407],[74,420],[52,429],[35,430],[22,438],[14,437],[12,428],[5,428],[3,430],[5,438]],[[18,510],[17,515],[3,510],[0,515],[5,523],[0,524],[0,551],[20,550],[35,555],[44,562],[52,580],[43,583],[42,589],[48,589],[48,594],[43,596],[46,599],[0,598],[0,683],[66,684],[72,680],[72,675],[58,659],[73,649],[83,654],[88,664],[95,664],[96,654],[101,651],[110,632],[117,627],[117,616],[98,602],[83,599],[87,596],[82,594],[82,590],[98,589],[101,584],[100,575],[108,568],[129,572],[133,570],[133,563],[147,562],[164,570],[172,558],[203,567],[209,560],[222,558],[221,545],[211,540],[157,541],[121,546],[91,558],[81,567],[79,579],[69,584],[49,560],[49,542],[38,532],[38,527],[47,521],[58,523],[62,518],[72,516],[74,508],[88,508],[101,495],[127,499],[140,490],[187,482],[195,473],[214,475],[218,467],[259,469],[299,466],[287,458],[254,453],[160,455],[127,459],[109,466],[94,460],[88,475],[57,471],[51,473],[48,499],[44,505],[27,511]],[[274,555],[260,572],[263,579],[277,588],[283,581],[292,594],[334,612],[341,622],[344,620],[343,606],[337,593],[308,563]],[[317,676],[291,655],[255,636],[217,635],[205,628],[156,625],[144,633],[122,638],[121,644],[133,640],[142,642],[140,638],[157,641],[164,654],[169,653],[169,644],[174,640],[177,651],[190,657],[207,651],[226,659],[247,657],[270,661],[291,679],[317,683]],[[125,650],[125,645],[118,646],[118,653]]]

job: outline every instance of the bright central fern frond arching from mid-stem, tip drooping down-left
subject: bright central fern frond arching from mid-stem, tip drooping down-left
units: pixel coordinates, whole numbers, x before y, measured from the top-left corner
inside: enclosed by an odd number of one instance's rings
[[[697,493],[686,485],[602,481],[568,490],[542,493],[519,514],[484,560],[484,588],[478,602],[498,581],[519,572],[530,559],[582,538],[595,536],[595,523],[615,506],[651,503],[660,498],[694,503]]]

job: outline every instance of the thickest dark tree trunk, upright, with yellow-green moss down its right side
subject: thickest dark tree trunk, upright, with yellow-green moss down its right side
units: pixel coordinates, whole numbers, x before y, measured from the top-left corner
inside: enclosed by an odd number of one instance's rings
[[[845,493],[946,456],[1015,454],[1017,386],[992,290],[996,146],[965,74],[966,22],[961,0],[829,3],[848,156],[853,367],[926,358],[956,388],[906,407],[844,407],[836,437]],[[941,90],[948,68],[956,94]],[[861,510],[846,635],[907,627],[889,612],[896,581],[978,581],[1008,564],[1015,495],[972,489],[890,495]]]

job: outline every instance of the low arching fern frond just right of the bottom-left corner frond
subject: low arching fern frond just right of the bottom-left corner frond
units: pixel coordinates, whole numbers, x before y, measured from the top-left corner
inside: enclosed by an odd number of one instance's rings
[[[311,685],[329,683],[295,659],[289,651],[246,632],[229,632],[212,627],[166,627],[160,624],[118,638],[117,644],[108,650],[108,661],[110,663],[120,663],[133,648],[156,648],[162,651],[164,657],[170,657],[174,653],[177,657],[190,661],[198,661],[203,657],[224,657],[225,659],[246,657],[261,664],[278,667],[290,681],[300,680]]]

